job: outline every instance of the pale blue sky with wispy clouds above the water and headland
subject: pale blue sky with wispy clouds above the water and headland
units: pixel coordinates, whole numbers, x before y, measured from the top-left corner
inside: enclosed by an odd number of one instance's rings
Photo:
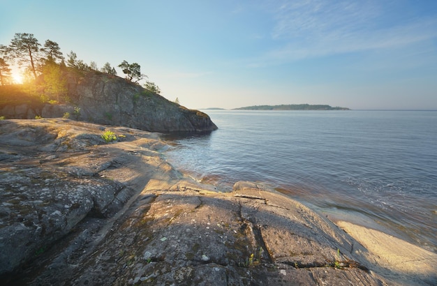
[[[15,33],[138,63],[192,109],[437,110],[436,0],[0,0],[0,45]]]

